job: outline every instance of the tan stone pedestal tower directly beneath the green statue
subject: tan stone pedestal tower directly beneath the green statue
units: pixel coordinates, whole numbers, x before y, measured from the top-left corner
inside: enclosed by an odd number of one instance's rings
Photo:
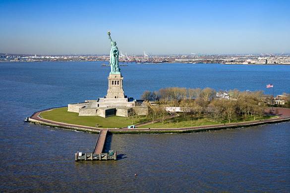
[[[123,77],[121,74],[108,76],[109,89],[106,98],[125,98],[123,90]]]

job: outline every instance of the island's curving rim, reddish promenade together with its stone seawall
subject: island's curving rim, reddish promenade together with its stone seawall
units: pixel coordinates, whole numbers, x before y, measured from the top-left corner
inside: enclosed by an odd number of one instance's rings
[[[56,108],[60,108],[60,107],[56,107]],[[52,121],[52,120],[39,117],[39,114],[41,112],[53,110],[56,108],[49,108],[49,109],[37,111],[33,113],[28,118],[27,121],[34,124],[57,127],[61,129],[83,131],[83,132],[89,132],[89,133],[100,133],[100,131],[102,130],[108,130],[110,133],[113,133],[113,134],[193,133],[193,132],[202,132],[202,131],[211,131],[211,130],[234,129],[234,128],[239,128],[239,127],[251,127],[251,126],[256,126],[256,125],[273,124],[273,123],[290,121],[290,109],[279,108],[279,107],[275,108],[276,115],[279,116],[279,118],[270,118],[270,119],[265,119],[261,121],[246,121],[246,122],[238,122],[238,123],[226,123],[226,124],[183,127],[183,128],[136,128],[136,129],[96,128],[96,127],[89,127],[89,126],[84,126],[84,125],[61,123],[61,122]]]

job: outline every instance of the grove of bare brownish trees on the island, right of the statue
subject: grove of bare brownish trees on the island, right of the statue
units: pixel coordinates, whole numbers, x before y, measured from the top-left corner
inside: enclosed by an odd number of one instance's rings
[[[202,115],[218,122],[226,119],[230,123],[234,118],[244,116],[246,119],[251,116],[256,119],[264,113],[266,103],[264,101],[265,96],[261,91],[240,92],[234,89],[230,91],[230,100],[215,99],[215,93],[215,90],[211,88],[201,90],[199,88],[170,87],[160,89],[158,92],[146,91],[142,97],[147,101],[157,101],[156,104],[159,104],[159,106],[156,106],[148,102],[152,122],[157,117],[164,120],[166,115],[164,106],[181,107],[184,119],[186,114],[190,114],[191,119],[197,117],[197,115]]]

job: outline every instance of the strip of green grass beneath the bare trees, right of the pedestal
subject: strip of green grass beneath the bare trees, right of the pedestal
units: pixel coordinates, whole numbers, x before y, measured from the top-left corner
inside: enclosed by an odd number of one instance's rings
[[[275,118],[276,116],[263,116],[259,119],[256,120],[264,120],[264,119],[269,119],[269,118]],[[245,122],[245,121],[254,121],[253,117],[248,117],[246,119],[244,118],[239,118],[232,120],[231,123],[237,123],[237,122]],[[203,126],[203,125],[217,125],[217,124],[225,124],[229,123],[228,120],[223,120],[221,122],[216,122],[209,120],[208,118],[199,118],[199,119],[193,119],[189,116],[184,116],[180,115],[178,117],[168,119],[164,121],[164,124],[162,122],[158,123],[151,123],[149,125],[144,125],[139,128],[181,128],[181,127],[195,127],[195,126]]]

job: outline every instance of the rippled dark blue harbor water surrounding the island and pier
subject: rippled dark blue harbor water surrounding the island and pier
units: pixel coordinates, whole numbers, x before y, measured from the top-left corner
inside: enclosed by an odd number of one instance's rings
[[[12,192],[289,192],[290,122],[163,135],[112,135],[122,159],[75,162],[96,134],[24,123],[34,111],[103,97],[102,62],[0,63],[0,190]],[[290,93],[290,66],[128,64],[125,94],[163,87]],[[134,174],[138,174],[134,177]]]

